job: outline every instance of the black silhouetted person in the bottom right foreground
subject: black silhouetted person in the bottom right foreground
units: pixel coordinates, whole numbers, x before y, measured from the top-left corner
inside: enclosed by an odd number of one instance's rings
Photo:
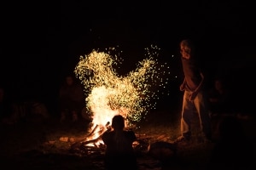
[[[219,139],[212,150],[212,169],[247,169],[253,163],[253,143],[235,116],[227,116],[218,127]]]

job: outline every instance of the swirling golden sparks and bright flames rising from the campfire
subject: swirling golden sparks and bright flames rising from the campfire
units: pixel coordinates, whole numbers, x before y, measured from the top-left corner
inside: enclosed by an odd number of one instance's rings
[[[160,65],[160,48],[146,48],[147,57],[138,62],[137,68],[125,76],[119,76],[113,65],[122,64],[117,54],[93,50],[80,56],[74,73],[84,85],[86,108],[93,125],[111,122],[114,115],[125,117],[126,126],[139,122],[155,108],[159,88],[166,88],[165,75],[169,67]],[[152,102],[154,99],[154,102]]]

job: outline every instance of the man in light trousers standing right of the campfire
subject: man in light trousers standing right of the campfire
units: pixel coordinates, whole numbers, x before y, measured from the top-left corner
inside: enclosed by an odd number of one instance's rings
[[[184,91],[184,94],[180,124],[181,136],[175,140],[175,143],[189,142],[194,111],[199,116],[203,139],[211,140],[212,126],[207,91],[204,89],[205,77],[198,62],[198,56],[195,55],[195,46],[189,39],[183,40],[179,45],[184,74],[180,90]]]

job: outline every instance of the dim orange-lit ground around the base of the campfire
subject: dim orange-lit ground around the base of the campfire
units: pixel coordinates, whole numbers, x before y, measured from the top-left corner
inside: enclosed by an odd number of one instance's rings
[[[214,144],[201,143],[198,119],[193,123],[189,145],[174,146],[179,135],[179,111],[151,111],[133,130],[139,169],[207,169]],[[212,125],[218,122],[212,119]],[[240,117],[247,137],[255,148],[255,121]],[[89,122],[59,122],[57,117],[44,121],[1,124],[1,167],[7,169],[103,169],[104,145],[86,146],[81,141],[90,132]],[[218,138],[218,133],[214,133]],[[148,152],[148,144],[152,149]],[[174,150],[177,151],[174,154]],[[252,148],[252,150],[255,150]]]

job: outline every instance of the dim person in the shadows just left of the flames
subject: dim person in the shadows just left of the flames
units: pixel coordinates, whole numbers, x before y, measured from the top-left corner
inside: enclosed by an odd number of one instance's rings
[[[68,115],[72,115],[72,121],[78,121],[79,113],[84,107],[84,90],[75,77],[68,75],[60,89],[61,122]]]

